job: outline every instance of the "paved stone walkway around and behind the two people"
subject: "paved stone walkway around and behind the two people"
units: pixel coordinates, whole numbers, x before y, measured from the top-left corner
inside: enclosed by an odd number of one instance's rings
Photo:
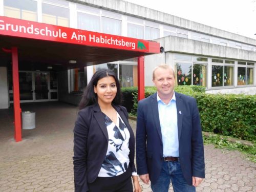
[[[0,191],[74,191],[77,109],[51,102],[23,104],[22,110],[36,112],[36,128],[23,130],[18,143],[13,139],[13,110],[0,110]],[[136,122],[130,123],[135,128]],[[240,152],[205,145],[205,163],[206,179],[197,191],[256,191],[256,164]],[[140,183],[143,191],[151,191]]]

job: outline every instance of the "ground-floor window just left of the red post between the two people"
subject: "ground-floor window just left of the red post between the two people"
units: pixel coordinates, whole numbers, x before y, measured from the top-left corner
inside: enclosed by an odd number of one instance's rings
[[[138,68],[134,65],[119,64],[119,81],[121,87],[138,87]]]

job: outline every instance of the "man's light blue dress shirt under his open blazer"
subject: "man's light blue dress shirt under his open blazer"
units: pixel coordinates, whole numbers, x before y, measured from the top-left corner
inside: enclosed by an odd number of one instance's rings
[[[175,92],[168,104],[157,94],[158,113],[163,140],[163,157],[179,157],[179,139]]]

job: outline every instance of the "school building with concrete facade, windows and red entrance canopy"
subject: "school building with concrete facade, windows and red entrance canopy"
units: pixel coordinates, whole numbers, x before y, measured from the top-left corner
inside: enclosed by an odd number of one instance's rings
[[[16,120],[20,102],[77,104],[100,68],[140,98],[160,63],[177,86],[256,93],[256,39],[125,1],[0,0],[0,46],[0,109]]]

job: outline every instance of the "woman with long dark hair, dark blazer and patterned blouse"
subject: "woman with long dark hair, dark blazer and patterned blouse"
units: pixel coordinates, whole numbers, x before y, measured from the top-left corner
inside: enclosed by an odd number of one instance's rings
[[[74,128],[75,191],[141,191],[135,139],[115,73],[97,71],[79,103]]]

